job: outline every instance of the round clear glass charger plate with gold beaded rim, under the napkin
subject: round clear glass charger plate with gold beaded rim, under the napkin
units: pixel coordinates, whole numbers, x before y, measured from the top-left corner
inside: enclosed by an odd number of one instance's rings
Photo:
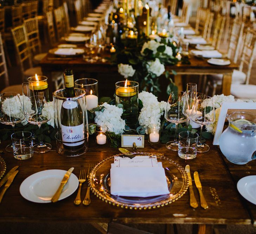
[[[110,168],[114,162],[113,155],[100,161],[90,172],[88,179],[92,192],[102,201],[117,207],[126,209],[151,209],[159,208],[171,204],[181,198],[188,189],[188,175],[183,167],[178,163],[166,158],[162,154],[152,154],[146,152],[132,152],[134,156],[157,155],[158,162],[162,162],[165,170],[166,180],[170,193],[167,195],[151,196],[147,198],[115,196],[110,193]]]

